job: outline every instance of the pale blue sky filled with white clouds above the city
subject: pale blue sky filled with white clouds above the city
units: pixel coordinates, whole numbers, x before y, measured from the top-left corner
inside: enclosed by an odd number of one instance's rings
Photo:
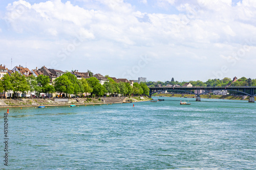
[[[1,1],[0,46],[8,69],[148,81],[255,79],[256,1]]]

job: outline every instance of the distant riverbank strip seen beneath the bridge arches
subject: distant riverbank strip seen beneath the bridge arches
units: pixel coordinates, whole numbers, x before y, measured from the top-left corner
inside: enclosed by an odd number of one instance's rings
[[[154,96],[162,96],[162,97],[175,97],[175,98],[196,98],[194,94],[165,94],[160,93]],[[246,95],[209,95],[209,94],[202,94],[200,95],[201,99],[228,99],[228,100],[249,100],[249,96]],[[254,97],[256,100],[256,97]]]

